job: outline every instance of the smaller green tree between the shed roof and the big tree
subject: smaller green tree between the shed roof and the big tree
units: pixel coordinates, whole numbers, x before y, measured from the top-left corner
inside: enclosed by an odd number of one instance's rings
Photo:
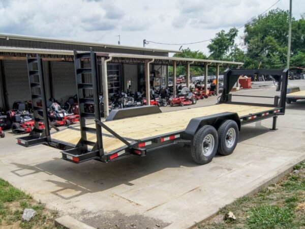
[[[225,33],[224,30],[216,34],[216,37],[211,39],[210,44],[207,48],[210,52],[209,59],[213,60],[224,60],[228,58],[228,53],[234,46],[235,38],[238,34],[237,28],[230,28],[228,33]]]

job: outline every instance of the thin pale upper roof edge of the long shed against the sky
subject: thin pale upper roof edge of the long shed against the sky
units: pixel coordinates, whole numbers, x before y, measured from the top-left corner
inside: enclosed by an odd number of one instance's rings
[[[158,51],[158,52],[180,52],[178,50],[168,50],[168,49],[158,49],[158,48],[142,48],[134,46],[124,46],[124,45],[113,45],[113,44],[103,44],[95,42],[81,42],[81,41],[70,41],[70,40],[59,40],[52,38],[41,38],[41,37],[28,37],[22,35],[14,34],[0,34],[0,39],[12,39],[12,40],[23,40],[23,41],[40,41],[40,42],[50,42],[59,44],[73,44],[73,45],[86,45],[86,46],[97,46],[97,47],[111,47],[111,48],[123,48],[123,49],[133,49],[142,51]]]

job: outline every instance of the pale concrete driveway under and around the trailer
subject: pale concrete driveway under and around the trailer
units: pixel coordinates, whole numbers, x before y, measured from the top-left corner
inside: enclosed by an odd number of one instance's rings
[[[95,227],[188,228],[305,159],[305,101],[287,108],[277,131],[269,130],[272,119],[243,126],[232,155],[201,166],[179,147],[73,164],[54,148],[18,146],[7,133],[0,177]]]

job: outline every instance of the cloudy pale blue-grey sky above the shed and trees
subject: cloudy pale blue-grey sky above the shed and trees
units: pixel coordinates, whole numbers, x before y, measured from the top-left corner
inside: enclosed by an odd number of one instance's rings
[[[208,40],[239,27],[277,0],[0,0],[0,33],[83,42],[143,46]],[[305,0],[292,1],[292,14],[305,13]],[[281,0],[271,9],[289,9]],[[239,30],[239,37],[243,28]],[[240,39],[237,39],[240,43]],[[208,42],[184,45],[208,54]],[[178,50],[180,45],[149,43]]]

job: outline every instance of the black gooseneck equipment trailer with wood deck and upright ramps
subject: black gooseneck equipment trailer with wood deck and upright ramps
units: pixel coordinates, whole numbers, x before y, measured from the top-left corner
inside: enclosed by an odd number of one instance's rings
[[[242,125],[272,118],[272,130],[276,130],[278,116],[285,113],[287,69],[226,69],[223,93],[216,105],[171,112],[161,112],[158,106],[112,110],[106,121],[101,122],[97,56],[103,55],[107,59],[106,53],[74,51],[80,126],[68,127],[53,134],[50,134],[48,120],[44,118],[46,98],[41,59],[39,56],[27,59],[35,122],[45,122],[46,125],[44,131],[39,129],[38,124],[35,125],[31,134],[17,139],[19,145],[46,144],[61,149],[63,159],[80,163],[92,159],[109,162],[131,155],[145,156],[149,151],[183,142],[190,145],[195,162],[206,164],[216,153],[229,155],[234,151]],[[84,59],[89,60],[90,68],[81,66]],[[38,70],[33,70],[33,63],[38,65]],[[106,73],[103,71],[101,74]],[[254,74],[271,75],[277,81],[280,96],[251,96],[272,98],[273,104],[232,101],[232,96],[241,96],[230,94],[239,76]],[[84,75],[91,78],[89,83],[83,81]],[[40,88],[40,92],[35,94],[34,88]],[[90,90],[93,98],[85,98],[85,90]],[[94,104],[95,113],[85,112],[86,103]],[[90,120],[94,122],[88,124]]]

